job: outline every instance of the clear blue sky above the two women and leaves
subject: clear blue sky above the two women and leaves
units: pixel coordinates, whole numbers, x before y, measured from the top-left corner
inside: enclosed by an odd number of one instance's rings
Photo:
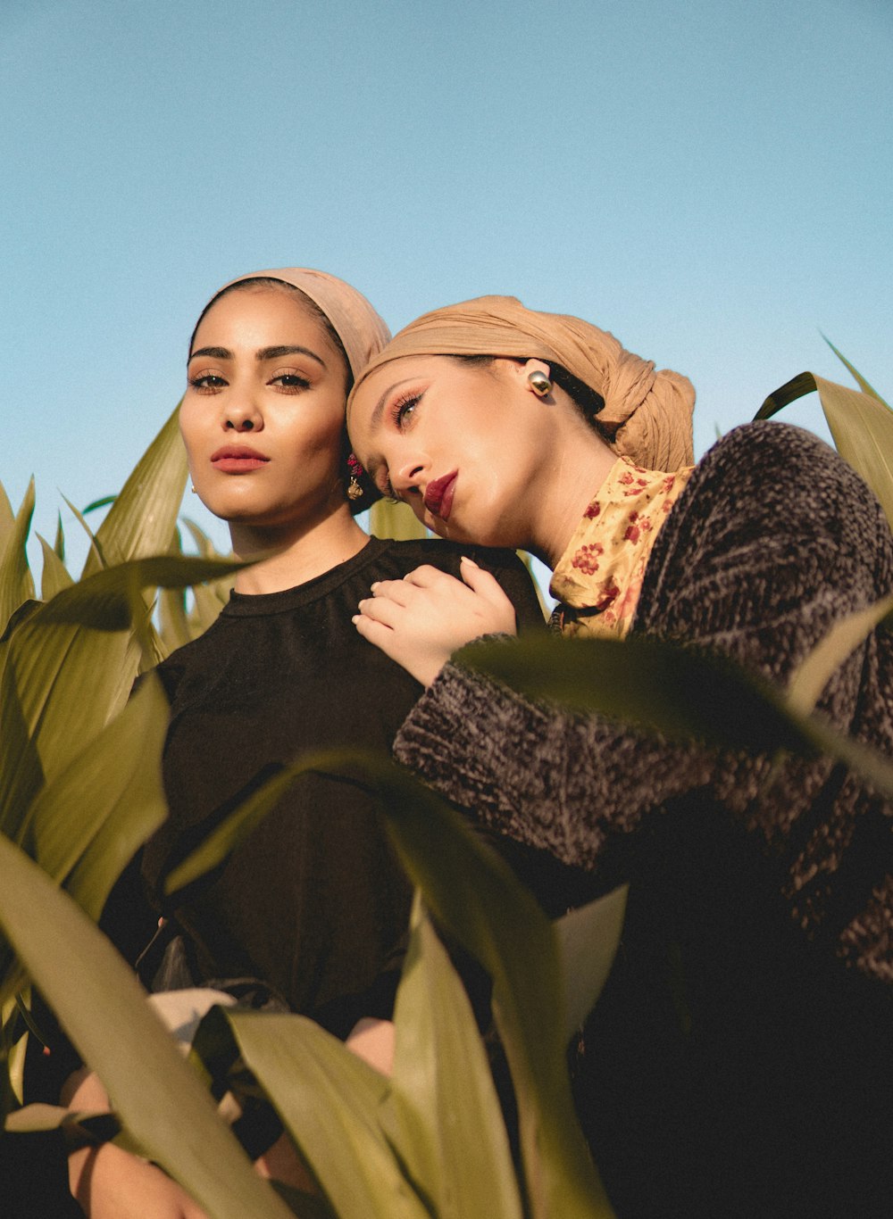
[[[820,330],[889,394],[892,51],[889,0],[2,0],[0,479],[73,536],[206,297],[278,265],[394,329],[579,313],[692,378],[698,452],[847,382]]]

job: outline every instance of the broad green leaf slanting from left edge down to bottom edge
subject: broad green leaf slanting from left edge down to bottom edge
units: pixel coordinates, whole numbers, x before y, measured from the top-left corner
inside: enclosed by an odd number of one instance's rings
[[[77,904],[0,836],[0,925],[124,1129],[215,1219],[287,1219],[131,969]]]

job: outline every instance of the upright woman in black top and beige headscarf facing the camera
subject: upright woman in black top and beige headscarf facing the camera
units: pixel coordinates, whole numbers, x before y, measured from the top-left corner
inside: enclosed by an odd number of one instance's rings
[[[298,1012],[383,1069],[411,887],[367,791],[335,774],[307,775],[213,874],[173,897],[165,879],[228,811],[303,753],[348,744],[387,753],[421,694],[351,625],[371,581],[400,579],[420,563],[457,574],[466,552],[438,539],[370,538],[355,521],[375,496],[348,449],[345,401],[387,339],[356,289],[298,267],[233,280],[199,317],[179,414],[193,490],[228,523],[234,553],[255,562],[238,573],[217,622],[159,666],[171,702],[170,816],[142,858],[154,908],[118,894],[106,912],[131,959],[165,915],[140,963],[150,990],[212,987]],[[478,558],[520,625],[542,627],[520,560]],[[94,1082],[76,1078],[66,1100],[95,1107],[85,1091]],[[279,1130],[255,1126],[246,1150],[267,1152]],[[73,1189],[94,1219],[181,1214],[171,1193],[193,1215],[156,1169],[122,1157],[112,1145],[78,1153]],[[294,1167],[283,1140],[262,1165],[276,1175]]]

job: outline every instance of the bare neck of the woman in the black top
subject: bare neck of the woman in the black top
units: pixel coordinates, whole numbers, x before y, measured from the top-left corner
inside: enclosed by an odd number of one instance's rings
[[[283,592],[325,575],[368,541],[346,506],[301,525],[257,527],[231,521],[229,536],[237,558],[257,560],[235,577],[235,591],[249,594]]]

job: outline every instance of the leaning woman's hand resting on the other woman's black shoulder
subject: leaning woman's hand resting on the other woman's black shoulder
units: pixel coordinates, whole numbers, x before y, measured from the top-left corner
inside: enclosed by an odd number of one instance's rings
[[[417,567],[401,580],[379,580],[360,602],[356,629],[422,685],[450,656],[481,635],[516,633],[515,607],[499,581],[462,556],[462,580]]]

